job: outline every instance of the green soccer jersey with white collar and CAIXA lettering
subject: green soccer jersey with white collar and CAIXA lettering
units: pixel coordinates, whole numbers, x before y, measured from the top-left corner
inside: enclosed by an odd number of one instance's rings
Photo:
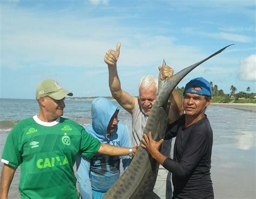
[[[22,198],[77,198],[73,173],[77,153],[93,157],[100,142],[72,120],[42,122],[37,116],[19,122],[6,140],[2,162],[21,165]]]

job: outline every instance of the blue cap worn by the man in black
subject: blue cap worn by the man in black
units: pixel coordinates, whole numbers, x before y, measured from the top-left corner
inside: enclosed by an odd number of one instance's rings
[[[201,90],[193,90],[190,87],[200,87]],[[197,77],[186,84],[183,94],[185,93],[212,96],[212,87],[211,84],[203,77]]]

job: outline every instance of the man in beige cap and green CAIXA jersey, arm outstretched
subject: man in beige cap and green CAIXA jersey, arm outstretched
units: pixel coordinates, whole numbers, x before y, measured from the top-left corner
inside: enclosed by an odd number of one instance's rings
[[[1,198],[8,191],[16,168],[21,165],[21,198],[78,198],[73,165],[78,152],[91,158],[96,153],[129,155],[137,147],[101,144],[79,124],[63,118],[65,96],[72,96],[54,80],[38,84],[39,114],[21,120],[9,133],[2,162]]]

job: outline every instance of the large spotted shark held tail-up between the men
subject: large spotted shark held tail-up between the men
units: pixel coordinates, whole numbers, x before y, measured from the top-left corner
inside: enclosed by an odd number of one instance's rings
[[[231,45],[228,45],[231,46]],[[150,116],[147,119],[144,133],[152,132],[154,140],[164,138],[164,133],[167,129],[167,103],[169,96],[178,83],[188,74],[199,66],[201,63],[212,58],[213,56],[224,51],[228,46],[221,48],[219,51],[208,56],[206,59],[191,65],[177,74],[166,78],[159,82],[159,93],[151,109]],[[163,63],[164,65],[164,63]],[[151,155],[139,147],[134,156],[129,168],[120,176],[120,178],[107,191],[103,198],[109,199],[127,199],[127,198],[154,198],[152,195],[154,184],[156,183],[159,164]],[[159,197],[158,197],[159,198]]]

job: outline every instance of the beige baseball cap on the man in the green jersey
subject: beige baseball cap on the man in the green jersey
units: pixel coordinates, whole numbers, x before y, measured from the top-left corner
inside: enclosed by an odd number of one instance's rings
[[[69,91],[63,89],[55,80],[44,80],[40,82],[36,89],[36,100],[40,97],[49,96],[55,100],[61,100],[66,95],[73,96]]]

